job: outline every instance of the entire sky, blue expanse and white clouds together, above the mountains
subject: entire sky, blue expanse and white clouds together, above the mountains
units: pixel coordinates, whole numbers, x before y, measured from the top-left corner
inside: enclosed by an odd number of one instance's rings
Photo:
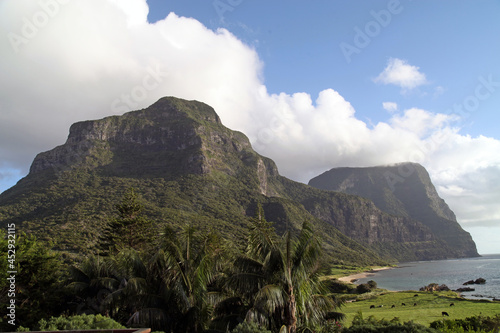
[[[500,2],[3,0],[0,192],[72,123],[213,106],[282,175],[405,161],[500,253]]]

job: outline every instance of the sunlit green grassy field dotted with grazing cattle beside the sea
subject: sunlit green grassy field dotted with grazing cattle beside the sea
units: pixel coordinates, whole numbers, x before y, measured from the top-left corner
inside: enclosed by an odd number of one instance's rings
[[[402,305],[403,303],[406,305]],[[450,306],[452,303],[454,305]],[[374,308],[370,308],[372,305]],[[386,320],[398,317],[401,322],[411,320],[428,326],[431,322],[442,318],[494,316],[500,314],[500,302],[465,300],[453,292],[383,292],[373,298],[347,303],[340,311],[346,314],[344,323],[347,326],[351,325],[358,311],[363,313],[365,319],[369,316]],[[443,311],[447,312],[449,317],[443,317]]]

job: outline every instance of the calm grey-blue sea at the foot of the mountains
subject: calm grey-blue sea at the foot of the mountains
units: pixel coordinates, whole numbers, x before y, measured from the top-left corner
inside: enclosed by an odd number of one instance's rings
[[[464,286],[464,282],[483,278],[485,284]],[[393,269],[381,270],[359,279],[356,283],[377,282],[387,290],[419,290],[430,283],[445,284],[455,290],[462,287],[474,291],[461,292],[469,299],[500,299],[500,254],[477,258],[416,261],[400,263]]]

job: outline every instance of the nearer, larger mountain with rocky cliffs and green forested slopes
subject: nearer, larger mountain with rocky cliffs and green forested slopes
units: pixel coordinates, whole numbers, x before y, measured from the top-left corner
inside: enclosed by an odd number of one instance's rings
[[[260,203],[278,232],[311,221],[332,263],[461,256],[408,216],[280,176],[213,108],[174,97],[73,124],[66,143],[38,154],[29,174],[0,194],[0,227],[16,223],[70,257],[93,253],[131,187],[158,230],[190,223],[243,245]]]

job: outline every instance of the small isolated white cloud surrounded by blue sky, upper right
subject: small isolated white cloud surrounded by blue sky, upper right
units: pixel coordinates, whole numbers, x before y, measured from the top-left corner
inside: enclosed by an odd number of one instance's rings
[[[419,72],[419,67],[409,65],[407,61],[398,58],[390,58],[387,67],[373,81],[394,84],[401,87],[403,91],[427,83],[425,74]]]

